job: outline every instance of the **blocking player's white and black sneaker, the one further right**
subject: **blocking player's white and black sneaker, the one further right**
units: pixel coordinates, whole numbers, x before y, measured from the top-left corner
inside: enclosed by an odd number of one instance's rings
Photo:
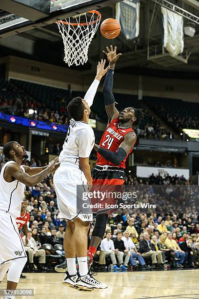
[[[106,289],[108,287],[105,283],[101,283],[100,281],[93,278],[93,275],[89,274],[84,276],[79,276],[78,274],[75,286],[79,290],[84,291],[93,291],[93,289]]]

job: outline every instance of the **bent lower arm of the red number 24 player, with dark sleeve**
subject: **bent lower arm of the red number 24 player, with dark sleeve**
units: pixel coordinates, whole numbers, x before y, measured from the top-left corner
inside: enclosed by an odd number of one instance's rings
[[[98,151],[100,155],[104,157],[106,160],[118,166],[129,154],[129,151],[134,147],[136,138],[137,137],[134,132],[129,132],[128,134],[126,134],[124,136],[123,142],[117,149],[117,152],[104,149],[97,144],[94,145],[94,149]]]

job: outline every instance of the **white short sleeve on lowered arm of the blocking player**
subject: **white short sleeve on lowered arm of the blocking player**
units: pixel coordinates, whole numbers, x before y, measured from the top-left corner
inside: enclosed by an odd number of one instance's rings
[[[81,130],[78,138],[79,143],[79,157],[88,158],[91,154],[91,150],[94,147],[94,133],[90,130]]]

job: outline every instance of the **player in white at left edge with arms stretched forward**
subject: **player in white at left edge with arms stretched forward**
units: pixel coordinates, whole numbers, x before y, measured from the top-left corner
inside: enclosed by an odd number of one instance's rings
[[[46,167],[22,166],[21,162],[28,156],[24,147],[16,141],[8,142],[3,147],[3,154],[9,161],[0,172],[0,282],[8,271],[7,290],[15,290],[27,261],[16,223],[25,186],[35,186],[48,173],[55,171],[60,163],[56,164],[57,159],[54,159]]]

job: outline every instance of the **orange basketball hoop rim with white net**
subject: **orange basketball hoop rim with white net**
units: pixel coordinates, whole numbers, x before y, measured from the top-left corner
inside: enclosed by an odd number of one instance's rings
[[[90,21],[87,14],[91,14]],[[85,22],[80,22],[83,15]],[[97,10],[91,10],[88,13],[75,16],[75,23],[70,19],[56,22],[64,44],[63,60],[68,66],[85,64],[88,61],[89,45],[100,24],[101,14]]]

